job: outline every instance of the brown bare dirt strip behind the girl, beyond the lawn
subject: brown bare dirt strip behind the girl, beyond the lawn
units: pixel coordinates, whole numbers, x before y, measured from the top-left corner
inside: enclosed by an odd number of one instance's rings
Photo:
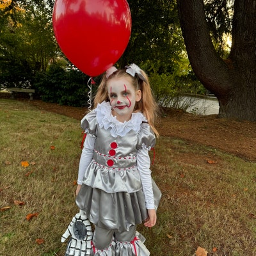
[[[77,120],[81,120],[87,111],[86,108],[60,106],[41,100],[32,100],[29,101],[29,104],[38,109]],[[161,136],[207,145],[242,157],[247,161],[256,161],[256,122],[218,118],[218,115],[193,115],[175,109],[163,109],[156,126]],[[191,161],[195,157],[198,159],[196,152],[189,156]]]

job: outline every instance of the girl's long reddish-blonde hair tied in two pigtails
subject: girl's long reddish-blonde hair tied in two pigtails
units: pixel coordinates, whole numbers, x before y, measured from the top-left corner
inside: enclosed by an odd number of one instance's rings
[[[109,101],[107,84],[111,79],[120,77],[129,79],[129,81],[131,81],[131,84],[134,85],[134,88],[136,90],[141,90],[141,99],[140,101],[136,102],[134,112],[143,113],[143,115],[145,115],[145,117],[148,120],[148,124],[150,125],[156,136],[159,136],[159,133],[157,132],[157,129],[154,125],[154,123],[156,122],[159,108],[156,103],[156,100],[154,99],[147,74],[143,70],[140,70],[140,72],[145,78],[145,81],[141,80],[137,74],[134,77],[131,76],[126,72],[125,69],[116,70],[115,72],[113,72],[113,74],[111,74],[108,77],[108,79],[106,77],[106,74],[104,74],[104,76],[102,77],[102,81],[100,82],[99,88],[97,90],[97,93],[95,95],[95,98],[93,100],[93,106],[94,108],[96,108],[97,105],[103,102],[104,100]]]

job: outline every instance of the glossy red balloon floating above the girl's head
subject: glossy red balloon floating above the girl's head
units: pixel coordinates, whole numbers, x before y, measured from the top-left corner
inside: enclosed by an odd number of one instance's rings
[[[118,61],[131,36],[126,0],[56,0],[52,24],[61,51],[91,77]]]

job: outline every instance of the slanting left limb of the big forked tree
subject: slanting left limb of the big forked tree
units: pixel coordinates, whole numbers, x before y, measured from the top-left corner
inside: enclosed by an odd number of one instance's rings
[[[178,8],[180,26],[191,67],[205,88],[216,96],[223,95],[231,86],[228,79],[228,65],[212,45],[203,1],[179,0]]]

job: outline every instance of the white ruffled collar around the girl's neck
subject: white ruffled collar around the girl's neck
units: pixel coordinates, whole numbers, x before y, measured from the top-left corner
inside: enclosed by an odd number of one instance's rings
[[[119,122],[116,119],[116,116],[113,116],[111,113],[111,106],[109,102],[102,102],[97,105],[95,108],[96,118],[100,128],[104,127],[104,129],[108,129],[111,127],[110,133],[111,136],[124,137],[127,132],[133,130],[136,133],[140,131],[140,125],[142,122],[147,122],[145,116],[141,113],[132,113],[132,117],[129,121],[125,121],[124,123]]]

